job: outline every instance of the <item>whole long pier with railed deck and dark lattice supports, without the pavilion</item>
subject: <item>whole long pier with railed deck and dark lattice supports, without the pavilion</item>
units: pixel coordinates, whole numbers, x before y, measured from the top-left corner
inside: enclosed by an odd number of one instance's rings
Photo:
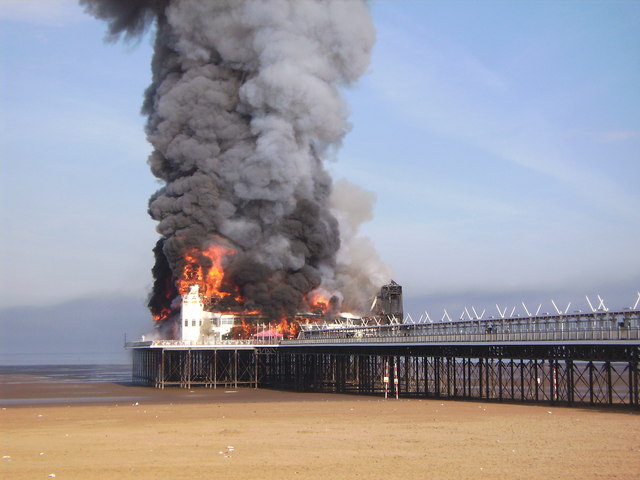
[[[158,388],[250,386],[366,395],[390,389],[399,397],[640,408],[635,307],[494,322],[315,324],[296,340],[128,346],[133,381]]]

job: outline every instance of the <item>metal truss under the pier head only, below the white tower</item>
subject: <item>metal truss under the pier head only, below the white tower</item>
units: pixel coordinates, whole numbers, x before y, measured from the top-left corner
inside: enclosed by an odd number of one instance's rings
[[[156,388],[237,388],[258,386],[253,345],[129,344],[132,350],[132,382]]]

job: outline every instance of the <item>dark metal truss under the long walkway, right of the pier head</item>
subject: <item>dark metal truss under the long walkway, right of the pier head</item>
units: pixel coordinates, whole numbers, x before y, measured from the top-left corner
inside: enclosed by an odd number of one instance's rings
[[[639,350],[637,342],[281,345],[258,351],[259,386],[368,395],[384,395],[388,389],[400,398],[640,408]]]

